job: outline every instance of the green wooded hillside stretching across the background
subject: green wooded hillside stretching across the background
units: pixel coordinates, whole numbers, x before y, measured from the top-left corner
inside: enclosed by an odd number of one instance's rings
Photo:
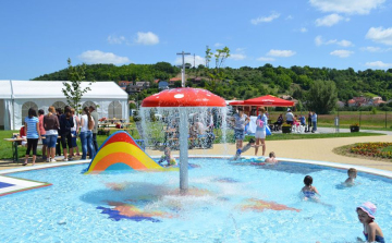
[[[187,86],[207,88],[225,99],[247,99],[266,94],[289,94],[294,98],[302,99],[305,92],[317,81],[334,82],[340,100],[348,100],[354,96],[381,96],[383,100],[392,98],[392,69],[365,70],[355,72],[353,69],[336,70],[310,66],[272,66],[265,64],[259,68],[242,66],[240,69],[223,68],[220,71],[223,77],[220,81],[211,81],[208,76],[213,69],[199,65],[187,69]],[[143,99],[149,94],[158,92],[154,80],[166,80],[176,76],[181,70],[168,62],[156,64],[128,64],[117,66],[113,64],[87,65],[87,81],[149,81],[151,86],[148,90],[138,94]],[[193,82],[194,77],[201,77],[200,82]],[[34,78],[35,81],[66,81],[68,70],[45,74]],[[176,83],[179,86],[179,83]],[[132,98],[132,97],[131,97]]]

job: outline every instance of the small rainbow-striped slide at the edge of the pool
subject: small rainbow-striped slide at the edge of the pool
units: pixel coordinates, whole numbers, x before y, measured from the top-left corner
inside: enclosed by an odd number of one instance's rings
[[[133,139],[123,131],[110,135],[98,149],[85,174],[101,173],[113,170],[168,170],[151,159]],[[174,169],[174,168],[172,168]]]

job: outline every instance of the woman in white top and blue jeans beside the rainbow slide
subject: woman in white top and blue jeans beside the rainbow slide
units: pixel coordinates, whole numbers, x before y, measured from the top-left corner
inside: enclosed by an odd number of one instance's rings
[[[93,147],[93,129],[95,121],[89,113],[87,107],[83,108],[83,114],[81,118],[81,142],[82,142],[82,159],[87,159],[87,149],[89,158],[93,159],[95,156],[95,150]]]

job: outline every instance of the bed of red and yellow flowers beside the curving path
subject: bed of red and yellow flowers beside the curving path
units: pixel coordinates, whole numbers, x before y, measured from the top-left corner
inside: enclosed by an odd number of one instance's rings
[[[388,147],[392,148],[392,143],[359,143],[351,147],[350,151],[356,155],[391,159],[392,153],[391,149],[387,149]]]

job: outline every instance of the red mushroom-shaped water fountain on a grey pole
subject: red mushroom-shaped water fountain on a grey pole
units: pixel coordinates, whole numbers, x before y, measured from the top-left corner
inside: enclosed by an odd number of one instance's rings
[[[143,108],[175,107],[180,111],[180,191],[188,190],[188,109],[189,107],[225,107],[223,98],[201,88],[166,89],[145,98]],[[184,108],[184,109],[183,109]]]

